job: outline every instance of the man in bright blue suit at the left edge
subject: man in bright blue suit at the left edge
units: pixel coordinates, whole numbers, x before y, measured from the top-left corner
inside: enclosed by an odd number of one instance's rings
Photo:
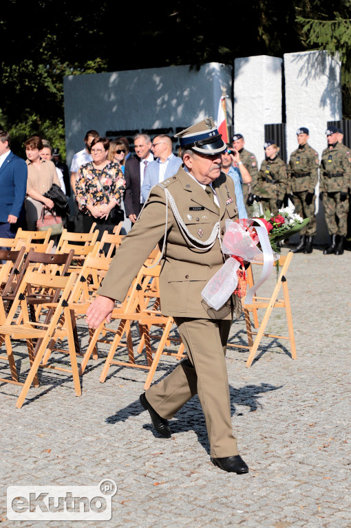
[[[10,150],[10,134],[0,130],[0,236],[14,239],[25,221],[24,199],[28,169]]]

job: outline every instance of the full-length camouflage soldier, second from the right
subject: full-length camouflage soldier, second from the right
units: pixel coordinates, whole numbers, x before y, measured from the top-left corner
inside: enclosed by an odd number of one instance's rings
[[[292,195],[295,212],[310,221],[301,231],[293,253],[312,253],[313,238],[317,232],[315,219],[315,186],[318,181],[318,153],[308,144],[308,129],[297,130],[299,147],[290,155],[288,163],[288,194]]]

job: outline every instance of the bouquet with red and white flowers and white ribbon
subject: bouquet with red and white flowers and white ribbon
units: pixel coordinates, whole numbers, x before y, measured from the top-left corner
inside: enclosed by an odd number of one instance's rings
[[[266,281],[278,261],[280,251],[277,243],[299,232],[309,219],[302,219],[292,208],[279,209],[274,216],[269,210],[260,218],[226,220],[226,232],[222,251],[229,258],[202,290],[202,298],[214,309],[220,309],[237,290],[238,278],[245,279],[244,264],[263,263],[259,281],[246,294],[246,303],[251,303],[258,287]],[[255,224],[255,225],[254,225]],[[242,270],[240,270],[242,267]],[[243,288],[240,287],[240,296]]]

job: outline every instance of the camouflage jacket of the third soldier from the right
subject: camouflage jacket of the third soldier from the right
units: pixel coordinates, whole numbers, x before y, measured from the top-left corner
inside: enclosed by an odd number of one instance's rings
[[[287,192],[288,176],[286,163],[281,157],[264,159],[257,177],[257,184],[251,191],[262,198],[284,200]]]

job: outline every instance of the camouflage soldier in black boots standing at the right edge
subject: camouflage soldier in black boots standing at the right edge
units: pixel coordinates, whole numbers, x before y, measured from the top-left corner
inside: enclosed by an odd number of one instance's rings
[[[350,154],[338,142],[337,126],[329,126],[328,146],[321,157],[320,192],[331,243],[323,254],[341,255],[348,230],[348,190],[351,186]]]

